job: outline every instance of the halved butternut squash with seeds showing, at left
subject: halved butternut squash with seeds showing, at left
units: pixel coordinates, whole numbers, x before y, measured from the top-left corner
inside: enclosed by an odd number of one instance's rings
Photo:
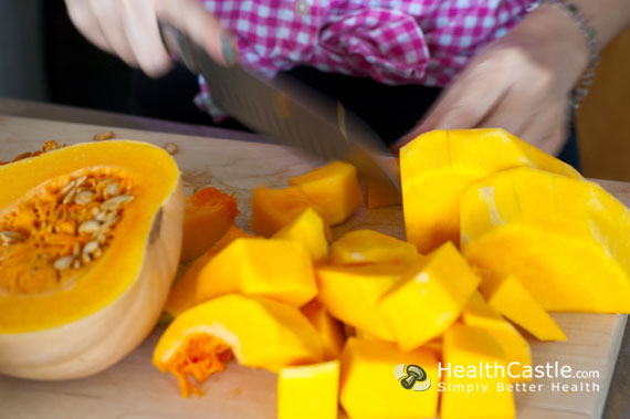
[[[0,374],[98,373],[158,320],[183,192],[150,144],[80,144],[0,167]]]

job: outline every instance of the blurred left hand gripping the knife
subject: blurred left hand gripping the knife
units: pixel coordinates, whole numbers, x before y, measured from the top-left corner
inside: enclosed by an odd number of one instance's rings
[[[78,31],[96,46],[157,77],[172,66],[158,20],[186,32],[219,63],[225,34],[198,0],[65,0]],[[223,38],[223,40],[222,40]]]

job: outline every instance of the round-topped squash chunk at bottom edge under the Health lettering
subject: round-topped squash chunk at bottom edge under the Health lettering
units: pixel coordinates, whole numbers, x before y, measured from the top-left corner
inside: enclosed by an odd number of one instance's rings
[[[452,325],[444,334],[442,356],[442,419],[515,417],[504,354],[487,333],[459,323]]]

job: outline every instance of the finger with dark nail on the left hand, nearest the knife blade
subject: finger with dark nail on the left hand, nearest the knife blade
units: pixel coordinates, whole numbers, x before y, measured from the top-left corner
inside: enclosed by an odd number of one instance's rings
[[[231,64],[232,60],[225,60],[223,50],[231,46],[227,43],[233,41],[227,38],[227,32],[221,30],[217,19],[203,8],[201,2],[197,0],[156,0],[156,12],[159,20],[186,32],[218,63]]]

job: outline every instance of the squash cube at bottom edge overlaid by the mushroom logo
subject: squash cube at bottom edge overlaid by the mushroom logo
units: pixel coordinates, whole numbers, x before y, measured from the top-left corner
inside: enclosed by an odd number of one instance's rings
[[[407,389],[408,365],[427,376],[423,390]],[[402,377],[398,377],[399,371]],[[350,337],[342,353],[340,402],[351,419],[432,418],[438,413],[438,360],[431,350],[402,353],[395,344]]]

